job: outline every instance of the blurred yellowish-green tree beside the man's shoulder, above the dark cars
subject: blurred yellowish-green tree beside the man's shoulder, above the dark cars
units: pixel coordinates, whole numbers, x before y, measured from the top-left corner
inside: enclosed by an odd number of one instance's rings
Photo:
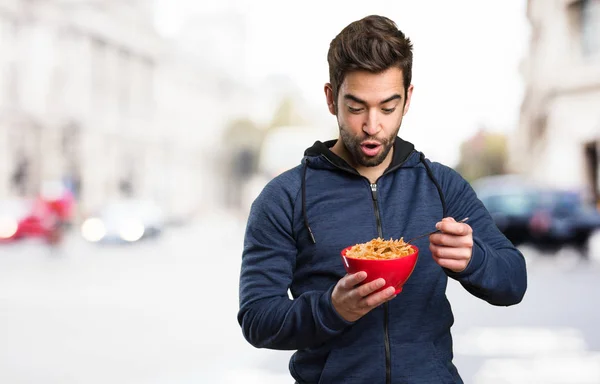
[[[456,170],[469,182],[506,173],[507,139],[500,133],[480,129],[460,146]]]

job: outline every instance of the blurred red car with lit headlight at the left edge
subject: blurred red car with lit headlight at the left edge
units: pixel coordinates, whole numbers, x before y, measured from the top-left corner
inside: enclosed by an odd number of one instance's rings
[[[41,199],[10,199],[0,201],[0,242],[34,237],[55,238],[59,217]]]

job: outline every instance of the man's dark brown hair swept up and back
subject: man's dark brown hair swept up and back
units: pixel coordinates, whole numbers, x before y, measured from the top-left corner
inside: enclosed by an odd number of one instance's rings
[[[327,62],[334,100],[350,71],[380,73],[397,66],[404,77],[404,91],[412,78],[412,43],[396,23],[384,16],[367,16],[346,26],[331,41]]]

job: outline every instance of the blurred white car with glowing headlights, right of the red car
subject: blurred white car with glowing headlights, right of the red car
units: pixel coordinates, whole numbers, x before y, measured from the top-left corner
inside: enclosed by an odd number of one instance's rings
[[[158,237],[164,230],[162,209],[149,200],[112,201],[86,218],[81,235],[92,243],[135,243]]]

